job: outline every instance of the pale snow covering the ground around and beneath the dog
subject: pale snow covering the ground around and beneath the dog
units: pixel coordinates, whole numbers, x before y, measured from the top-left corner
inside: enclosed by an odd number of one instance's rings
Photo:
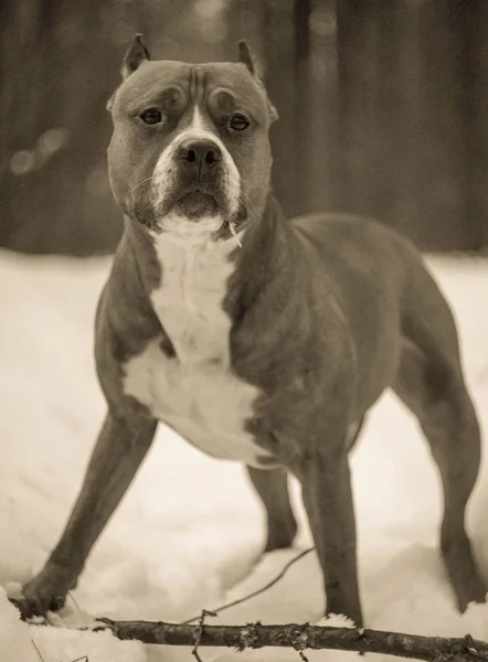
[[[488,423],[488,260],[429,257],[458,320],[468,384]],[[54,545],[79,488],[104,415],[94,363],[93,316],[107,258],[0,253],[0,585],[22,583]],[[468,525],[488,580],[488,453]],[[369,627],[488,640],[488,606],[463,616],[437,551],[439,482],[415,421],[392,395],[372,412],[352,457],[362,600]],[[213,460],[161,426],[135,483],[96,545],[78,588],[57,618],[83,613],[179,621],[259,588],[311,544],[259,559],[263,513],[236,463]],[[0,588],[0,662],[172,662],[190,649],[120,642],[108,632],[28,626]],[[321,578],[309,554],[265,594],[212,623],[317,621]],[[338,620],[339,619],[339,620]],[[335,617],[322,624],[344,623]],[[34,648],[35,647],[39,650]],[[332,658],[333,655],[333,658]],[[205,661],[236,653],[202,649]],[[307,653],[352,660],[352,653]],[[238,660],[297,660],[295,651],[245,651]],[[373,658],[372,658],[373,659]],[[380,656],[376,656],[380,659]],[[83,661],[84,662],[84,661]]]

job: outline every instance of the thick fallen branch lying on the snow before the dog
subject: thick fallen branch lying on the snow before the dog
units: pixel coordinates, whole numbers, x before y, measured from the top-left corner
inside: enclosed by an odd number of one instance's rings
[[[401,632],[305,624],[180,626],[153,621],[100,619],[97,630],[110,630],[123,640],[166,645],[246,648],[287,647],[297,651],[332,649],[361,653],[383,653],[432,662],[488,661],[488,643],[467,634],[464,638],[421,637]]]

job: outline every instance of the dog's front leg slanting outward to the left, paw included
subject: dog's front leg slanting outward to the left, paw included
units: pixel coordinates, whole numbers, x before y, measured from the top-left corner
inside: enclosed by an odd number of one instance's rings
[[[44,568],[23,588],[18,606],[24,617],[63,606],[92,546],[146,456],[155,430],[156,421],[146,414],[124,420],[107,415],[64,533]]]

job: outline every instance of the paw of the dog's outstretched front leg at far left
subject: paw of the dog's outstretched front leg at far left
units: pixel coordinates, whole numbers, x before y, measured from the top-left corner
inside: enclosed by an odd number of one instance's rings
[[[21,617],[31,619],[57,611],[66,600],[67,591],[74,581],[66,568],[46,565],[45,568],[22,588],[22,594],[12,596],[10,601],[19,609]]]

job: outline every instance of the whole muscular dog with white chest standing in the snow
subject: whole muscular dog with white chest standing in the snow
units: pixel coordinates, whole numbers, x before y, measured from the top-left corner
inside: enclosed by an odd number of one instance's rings
[[[96,314],[108,413],[23,613],[61,607],[165,421],[247,466],[266,549],[294,540],[287,473],[298,478],[326,612],[362,626],[348,451],[388,387],[441,472],[457,607],[484,601],[464,522],[479,429],[452,312],[418,252],[363,218],[284,218],[269,185],[276,111],[244,42],[235,63],[187,64],[151,61],[137,35],[123,76],[108,161],[125,229]]]

